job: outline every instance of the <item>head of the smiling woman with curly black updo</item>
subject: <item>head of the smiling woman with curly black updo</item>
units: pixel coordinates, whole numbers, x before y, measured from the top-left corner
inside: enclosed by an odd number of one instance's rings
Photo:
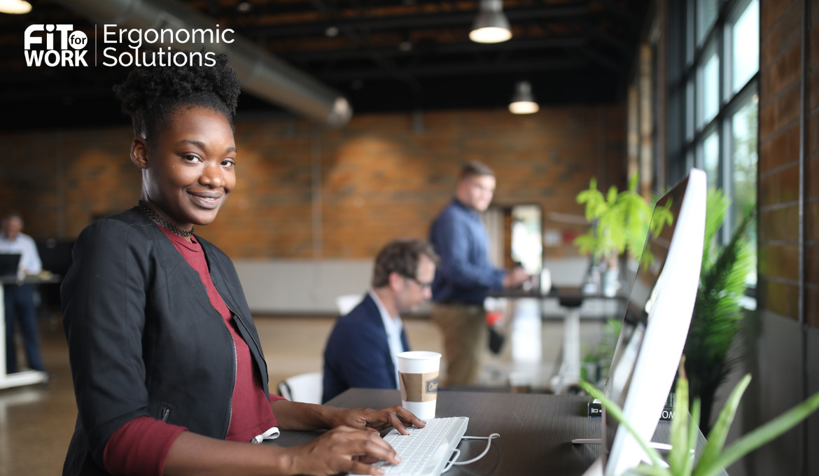
[[[167,75],[179,76],[170,80]],[[155,76],[166,81],[152,89]],[[223,57],[213,68],[133,70],[115,88],[133,118],[130,156],[143,170],[141,200],[159,215],[157,223],[185,238],[190,239],[193,225],[215,220],[236,184],[232,121],[238,87]]]

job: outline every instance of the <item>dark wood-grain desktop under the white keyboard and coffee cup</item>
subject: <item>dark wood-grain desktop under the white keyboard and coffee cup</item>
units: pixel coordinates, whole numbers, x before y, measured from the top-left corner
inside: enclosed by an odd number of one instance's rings
[[[468,416],[467,436],[492,440],[486,456],[470,465],[454,466],[447,476],[581,476],[600,456],[600,445],[574,445],[572,438],[600,437],[600,419],[586,417],[589,397],[534,393],[438,392],[436,415]],[[328,401],[345,408],[400,405],[397,390],[351,388]],[[654,441],[667,442],[670,422],[661,421]],[[292,447],[309,442],[317,432],[283,431],[270,444]],[[698,452],[705,439],[700,435]],[[460,460],[483,451],[486,440],[463,440]]]

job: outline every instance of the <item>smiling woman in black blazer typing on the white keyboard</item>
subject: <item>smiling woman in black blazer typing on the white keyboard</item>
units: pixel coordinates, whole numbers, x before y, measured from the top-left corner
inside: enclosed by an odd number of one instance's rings
[[[239,82],[215,58],[138,68],[115,88],[142,193],[80,233],[61,288],[79,409],[63,474],[379,474],[365,461],[396,453],[361,430],[423,422],[270,396],[233,263],[193,234],[236,185]],[[301,447],[248,444],[279,428],[332,429]]]

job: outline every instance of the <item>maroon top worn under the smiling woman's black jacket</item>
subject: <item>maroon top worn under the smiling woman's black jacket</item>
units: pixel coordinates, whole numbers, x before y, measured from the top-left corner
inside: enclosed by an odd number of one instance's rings
[[[157,225],[159,226],[159,225]],[[255,365],[247,342],[238,333],[238,323],[233,320],[228,306],[210,279],[205,253],[201,244],[191,237],[185,238],[171,233],[160,226],[177,250],[188,261],[188,265],[197,270],[202,284],[207,289],[210,304],[222,315],[227,328],[233,337],[236,348],[237,369],[236,385],[233,388],[232,415],[226,440],[249,442],[251,438],[264,433],[277,425],[276,417],[270,408],[270,402],[283,400],[283,397],[271,395],[268,400],[261,386],[261,374]],[[140,416],[122,425],[106,443],[104,463],[106,471],[111,474],[156,474],[161,476],[165,469],[171,445],[184,428],[164,421]]]

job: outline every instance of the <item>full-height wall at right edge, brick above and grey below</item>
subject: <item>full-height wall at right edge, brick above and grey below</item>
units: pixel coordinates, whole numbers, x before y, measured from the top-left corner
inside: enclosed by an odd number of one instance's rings
[[[806,5],[808,58],[803,61]],[[744,399],[742,433],[819,390],[819,1],[762,0],[760,7],[758,311],[747,326],[753,383]],[[803,103],[805,66],[808,95]],[[803,104],[808,105],[804,118]],[[800,183],[807,186],[803,217]],[[799,276],[800,221],[808,240],[804,282]],[[749,476],[819,474],[813,450],[817,442],[819,415],[814,414],[747,456],[744,469]]]

